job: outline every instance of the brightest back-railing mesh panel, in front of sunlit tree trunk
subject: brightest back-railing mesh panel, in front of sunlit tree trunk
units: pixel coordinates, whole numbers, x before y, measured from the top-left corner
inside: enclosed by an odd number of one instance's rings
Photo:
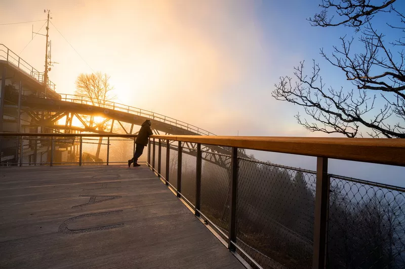
[[[102,165],[107,162],[107,138],[83,137],[82,165]]]

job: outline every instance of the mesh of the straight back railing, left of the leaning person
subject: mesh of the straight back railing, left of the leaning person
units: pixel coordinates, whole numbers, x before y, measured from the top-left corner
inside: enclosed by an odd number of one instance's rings
[[[123,165],[134,154],[134,139],[82,136],[0,138],[0,166]],[[81,152],[81,154],[80,154]],[[147,152],[139,157],[146,163]]]

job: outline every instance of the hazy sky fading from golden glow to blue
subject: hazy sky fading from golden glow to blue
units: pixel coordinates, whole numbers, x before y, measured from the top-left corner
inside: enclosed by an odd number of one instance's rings
[[[111,76],[117,102],[217,135],[327,136],[305,130],[294,119],[301,108],[271,96],[280,76],[291,76],[303,60],[309,68],[312,59],[319,62],[327,83],[353,88],[321,59],[319,48],[331,52],[340,36],[356,33],[348,27],[311,27],[306,19],[320,11],[319,4],[320,0],[0,0],[0,24],[44,20],[44,9],[51,10],[52,61],[59,64],[49,76],[59,93],[73,94],[78,74],[101,71]],[[384,15],[377,18],[376,25],[385,20]],[[42,70],[45,37],[31,40],[32,24],[38,32],[44,21],[0,25],[0,43]],[[39,32],[45,34],[45,27]],[[277,156],[261,155],[290,166],[313,163]],[[360,174],[358,169],[350,174],[369,177],[374,170],[368,165]]]

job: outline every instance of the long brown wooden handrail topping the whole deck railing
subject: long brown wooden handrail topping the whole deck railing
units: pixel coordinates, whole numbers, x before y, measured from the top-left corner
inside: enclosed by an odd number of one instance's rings
[[[127,137],[126,134],[2,133],[0,136]],[[405,139],[152,135],[151,138],[405,166]]]

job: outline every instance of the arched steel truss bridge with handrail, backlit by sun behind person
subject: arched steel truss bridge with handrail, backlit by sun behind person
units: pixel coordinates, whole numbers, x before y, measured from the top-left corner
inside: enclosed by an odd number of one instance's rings
[[[15,106],[18,103],[18,95],[11,94],[5,101],[7,105]],[[101,107],[93,105],[93,102],[78,95],[62,94],[61,98],[55,99],[28,95],[26,92],[22,93],[20,100],[21,110],[31,118],[31,122],[25,125],[26,127],[42,126],[45,130],[57,132],[63,130],[65,133],[114,134],[124,131],[125,134],[137,134],[137,128],[134,127],[140,126],[149,119],[152,122],[152,131],[157,135],[214,135],[196,126],[147,110],[109,101],[103,101],[104,104]],[[95,121],[94,117],[99,117],[101,120]],[[64,118],[64,124],[60,124],[60,120]],[[74,120],[79,121],[82,127],[73,125]],[[177,145],[172,144],[174,142],[171,141],[170,147],[176,150]],[[203,159],[207,162],[224,168],[229,167],[230,148],[203,145],[201,149],[205,152]],[[184,143],[183,153],[196,156],[196,145]],[[249,157],[243,149],[240,149],[239,154]]]

